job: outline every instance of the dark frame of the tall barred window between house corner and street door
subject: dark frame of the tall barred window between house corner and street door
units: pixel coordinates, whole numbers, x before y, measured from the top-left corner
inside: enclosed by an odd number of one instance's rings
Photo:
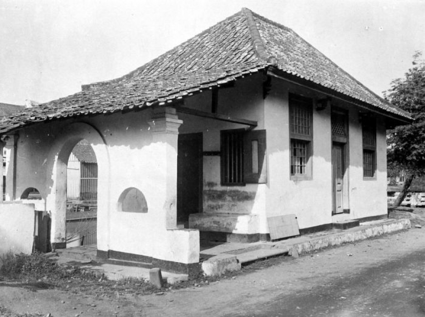
[[[295,132],[294,111],[296,109],[306,110],[308,117],[308,134]],[[301,119],[302,120],[302,119]],[[306,144],[305,174],[292,174],[293,144],[302,142]],[[300,95],[289,94],[289,175],[290,180],[312,180],[312,158],[313,158],[313,99]]]

